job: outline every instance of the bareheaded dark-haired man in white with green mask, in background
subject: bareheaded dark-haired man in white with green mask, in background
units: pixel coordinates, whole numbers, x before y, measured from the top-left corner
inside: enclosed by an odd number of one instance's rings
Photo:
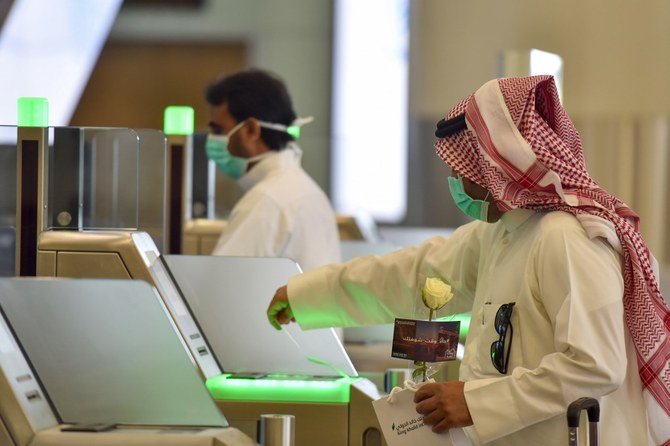
[[[213,254],[288,257],[303,271],[340,261],[335,213],[294,142],[309,121],[296,118],[283,82],[242,71],[212,84],[206,98],[207,154],[245,191]]]

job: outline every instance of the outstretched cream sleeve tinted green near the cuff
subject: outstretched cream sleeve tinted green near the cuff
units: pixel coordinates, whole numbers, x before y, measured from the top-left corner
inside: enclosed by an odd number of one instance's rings
[[[294,276],[288,296],[303,329],[350,327],[422,317],[421,287],[427,277],[450,284],[455,298],[441,314],[472,309],[479,256],[478,224],[448,237],[433,237],[417,247],[384,256],[364,256]],[[426,310],[427,311],[427,310]]]

